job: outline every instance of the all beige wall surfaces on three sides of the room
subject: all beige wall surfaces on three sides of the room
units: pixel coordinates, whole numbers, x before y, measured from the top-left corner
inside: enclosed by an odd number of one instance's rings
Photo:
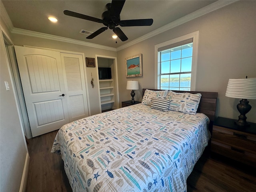
[[[141,100],[142,88],[154,88],[154,45],[199,30],[196,90],[218,92],[217,116],[237,118],[239,99],[225,96],[229,78],[256,77],[256,1],[239,1],[211,12],[176,28],[158,34],[117,53],[44,38],[11,34],[1,20],[4,31],[15,45],[30,45],[59,50],[83,52],[86,57],[98,55],[118,57],[118,83],[120,102],[130,100],[126,90],[127,80],[138,80],[140,90],[135,99]],[[3,82],[11,82],[8,63],[1,40],[0,63],[0,191],[18,191],[26,157],[26,144],[20,125],[12,84],[6,91]],[[142,54],[143,76],[126,78],[125,58]],[[89,99],[92,114],[99,112],[98,85],[92,89],[91,73],[96,79],[96,68],[86,68]],[[252,110],[248,121],[256,122],[256,100],[250,100]],[[15,134],[12,134],[15,133]]]

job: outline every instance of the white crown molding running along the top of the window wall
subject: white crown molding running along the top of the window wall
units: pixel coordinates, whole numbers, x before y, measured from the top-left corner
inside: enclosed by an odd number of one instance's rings
[[[205,6],[205,7],[201,8],[201,9],[199,9],[197,11],[194,11],[191,14],[188,14],[188,15],[186,15],[186,16],[178,19],[178,20],[175,20],[175,21],[173,21],[173,22],[171,22],[169,24],[166,24],[165,26],[162,26],[162,27],[160,27],[160,28],[158,28],[158,29],[156,29],[156,30],[154,30],[152,32],[149,32],[148,34],[146,34],[144,36],[141,36],[141,37],[139,37],[139,38],[137,38],[135,40],[132,40],[132,41],[130,41],[130,42],[128,42],[128,43],[126,43],[126,44],[116,48],[116,49],[117,49],[117,51],[120,51],[120,50],[122,50],[124,48],[127,48],[127,47],[132,46],[132,45],[134,45],[136,43],[144,41],[144,40],[146,40],[148,38],[156,36],[156,35],[158,35],[158,34],[160,34],[162,32],[170,30],[170,29],[172,29],[172,28],[174,28],[176,26],[184,24],[184,23],[186,23],[186,22],[188,22],[190,20],[193,20],[193,19],[198,18],[200,16],[203,16],[205,14],[208,14],[208,13],[210,13],[212,11],[215,11],[215,10],[217,10],[219,8],[222,8],[224,6],[232,4],[232,3],[236,2],[236,1],[238,1],[238,0],[218,0],[217,2],[214,2],[214,3],[210,4],[210,5]]]

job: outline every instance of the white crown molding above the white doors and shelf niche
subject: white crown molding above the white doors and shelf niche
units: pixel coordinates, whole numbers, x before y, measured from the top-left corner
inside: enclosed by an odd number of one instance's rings
[[[60,37],[60,36],[55,36],[55,35],[50,35],[50,34],[45,34],[45,33],[40,33],[40,32],[34,32],[34,31],[30,31],[30,30],[24,30],[24,29],[20,29],[20,28],[13,28],[12,33],[28,35],[28,36],[33,36],[33,37],[40,37],[40,38],[56,40],[56,41],[62,41],[62,42],[67,42],[67,43],[73,43],[73,44],[94,47],[94,48],[99,48],[99,49],[105,49],[105,50],[110,50],[110,51],[116,51],[116,48],[113,48],[113,47],[103,46],[103,45],[99,45],[99,44],[84,42],[84,41],[80,41],[80,40],[74,40],[74,39],[70,39],[70,38],[66,38],[66,37]]]

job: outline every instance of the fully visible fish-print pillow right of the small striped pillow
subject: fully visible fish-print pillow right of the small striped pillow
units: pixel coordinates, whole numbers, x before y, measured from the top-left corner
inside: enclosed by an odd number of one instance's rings
[[[172,92],[170,95],[172,95],[168,97],[168,100],[171,101],[170,110],[186,114],[196,114],[202,94]]]

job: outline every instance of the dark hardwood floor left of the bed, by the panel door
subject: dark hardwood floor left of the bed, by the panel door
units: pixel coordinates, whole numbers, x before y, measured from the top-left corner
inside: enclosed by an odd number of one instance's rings
[[[58,130],[29,139],[26,192],[72,192],[61,155],[51,153]]]

